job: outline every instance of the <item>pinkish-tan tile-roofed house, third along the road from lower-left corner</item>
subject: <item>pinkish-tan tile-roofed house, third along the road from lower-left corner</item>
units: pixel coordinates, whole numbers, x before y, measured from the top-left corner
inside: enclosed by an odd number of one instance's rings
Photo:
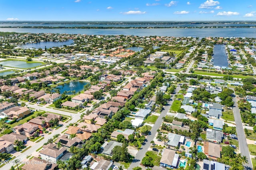
[[[25,135],[26,137],[32,137],[36,133],[36,130],[39,129],[38,125],[33,123],[23,123],[22,125],[17,125],[13,128],[13,132]]]

